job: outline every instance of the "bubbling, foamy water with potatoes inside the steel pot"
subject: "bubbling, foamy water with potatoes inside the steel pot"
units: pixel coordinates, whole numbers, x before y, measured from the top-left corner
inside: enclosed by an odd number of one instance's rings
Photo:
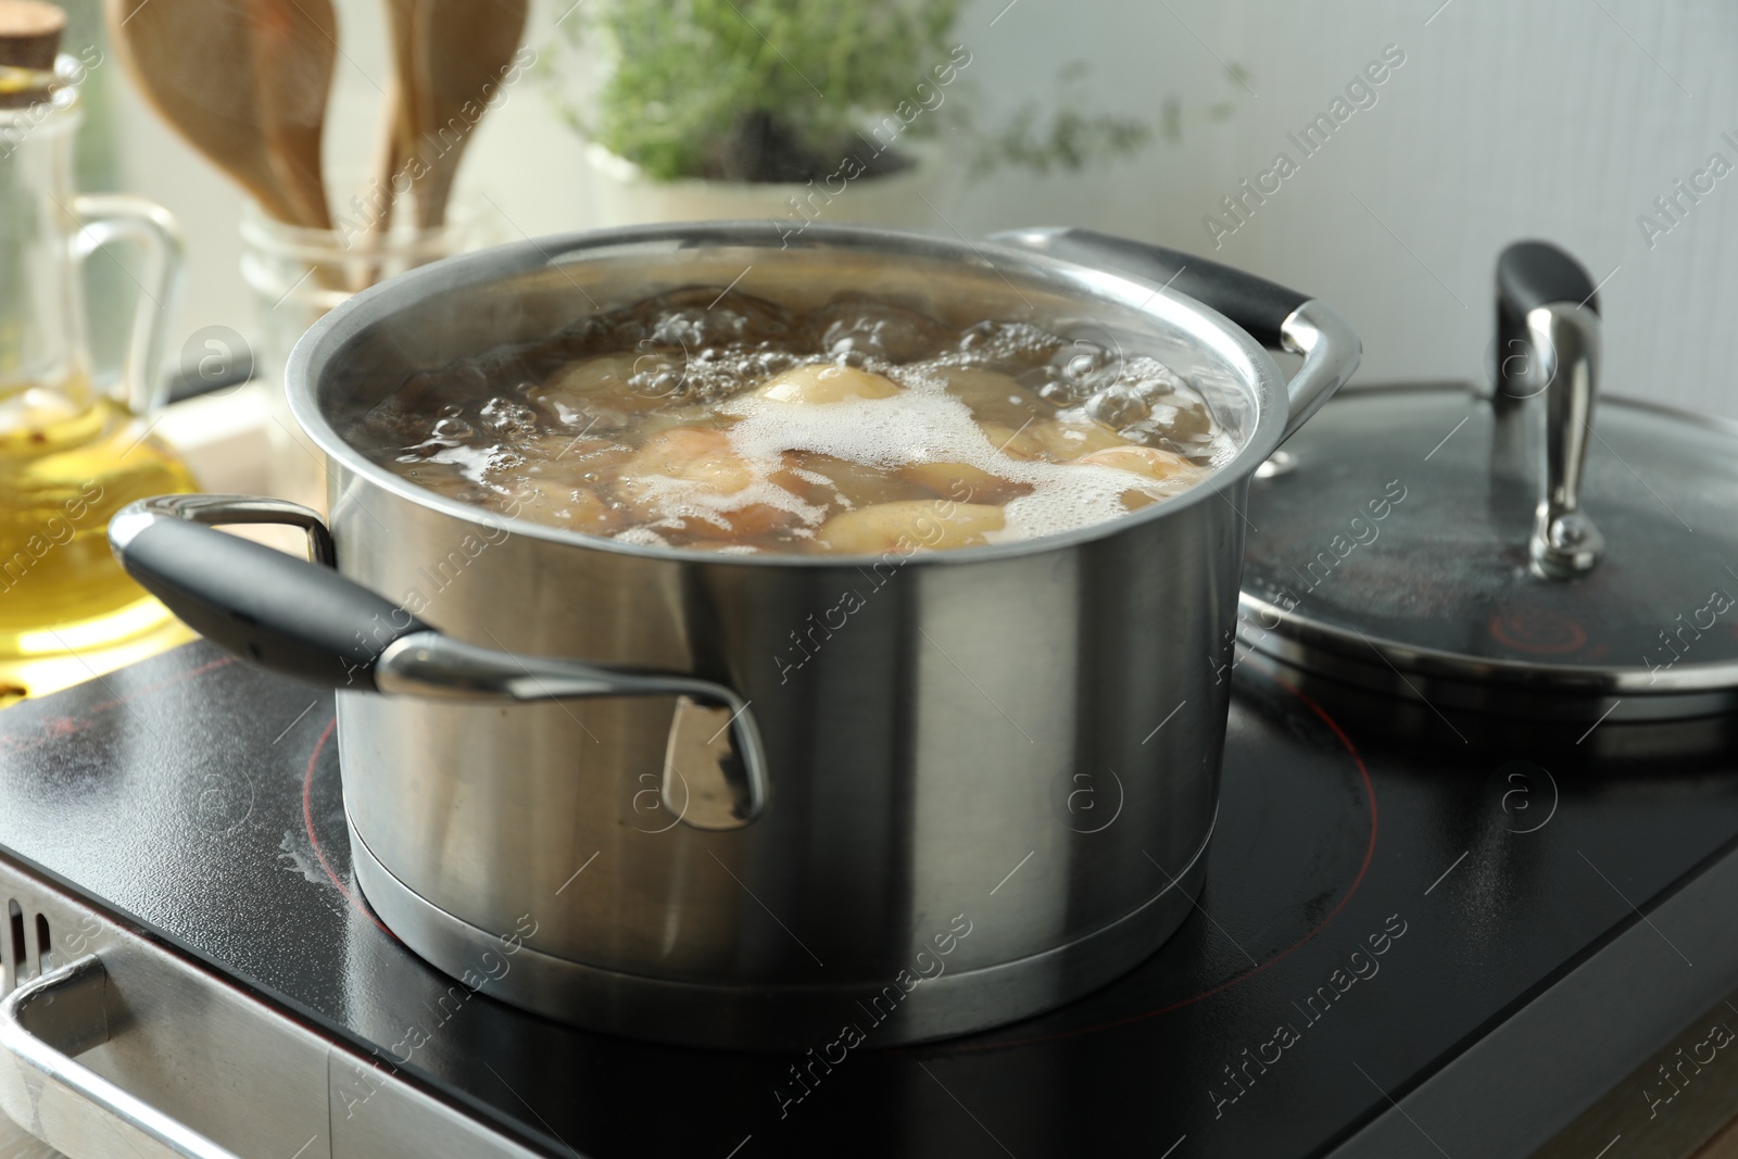
[[[1145,354],[860,295],[695,287],[424,372],[349,441],[421,487],[638,544],[885,553],[1050,535],[1232,452]]]

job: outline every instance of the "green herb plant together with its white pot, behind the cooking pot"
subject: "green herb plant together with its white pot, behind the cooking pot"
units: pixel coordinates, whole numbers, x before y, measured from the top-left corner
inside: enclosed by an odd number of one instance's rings
[[[963,160],[970,176],[1079,169],[1156,136],[1140,118],[1079,111],[1079,66],[1064,68],[1051,99],[985,127],[972,99],[972,50],[954,36],[959,9],[961,0],[589,0],[574,9],[544,80],[587,142],[593,224],[918,226],[933,222],[949,160]],[[589,92],[572,89],[586,71],[570,68],[575,54],[601,66]]]

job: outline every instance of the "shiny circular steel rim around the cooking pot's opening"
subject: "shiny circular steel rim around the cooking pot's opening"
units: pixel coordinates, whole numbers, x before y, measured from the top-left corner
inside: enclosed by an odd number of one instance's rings
[[[765,221],[720,221],[720,222],[674,222],[655,226],[626,226],[615,229],[587,229],[544,238],[525,238],[504,245],[488,247],[471,254],[447,257],[428,266],[405,271],[395,278],[381,281],[344,302],[320,318],[290,351],[285,367],[285,393],[290,414],[302,431],[330,459],[342,464],[346,471],[374,487],[384,488],[400,499],[422,507],[431,507],[455,520],[504,530],[513,535],[527,535],[587,551],[608,551],[622,556],[636,556],[648,561],[666,563],[709,563],[720,566],[751,568],[859,568],[871,563],[883,563],[890,554],[900,556],[900,566],[958,566],[972,563],[989,563],[996,560],[1022,558],[1081,547],[1098,540],[1107,540],[1130,533],[1149,523],[1158,523],[1175,513],[1197,504],[1218,499],[1236,506],[1232,492],[1248,481],[1255,469],[1284,440],[1288,421],[1286,379],[1267,353],[1248,332],[1234,321],[1211,309],[1204,302],[1171,290],[1168,285],[1138,278],[1121,271],[1102,269],[1050,254],[1039,254],[996,242],[959,240],[933,235],[909,233],[902,229],[883,229],[871,226],[810,226],[801,248],[845,248],[879,254],[907,254],[912,257],[949,259],[968,266],[978,266],[1001,275],[1003,268],[1050,288],[1069,290],[1142,315],[1158,315],[1164,321],[1178,327],[1199,344],[1210,346],[1213,354],[1234,372],[1239,387],[1244,391],[1253,408],[1255,419],[1237,452],[1213,473],[1173,499],[1151,504],[1140,511],[1131,511],[1114,520],[1091,523],[1039,535],[1034,539],[1012,540],[1006,544],[984,544],[978,547],[949,547],[945,551],[912,551],[900,554],[886,551],[879,554],[801,554],[801,553],[765,553],[732,554],[718,551],[697,551],[692,547],[660,547],[650,544],[631,544],[600,535],[586,535],[547,523],[535,523],[518,516],[504,516],[476,504],[448,499],[428,488],[410,483],[400,474],[368,460],[348,440],[344,440],[327,421],[318,403],[318,382],[334,354],[339,354],[353,339],[362,335],[374,323],[396,313],[407,301],[415,301],[436,290],[452,290],[464,285],[481,285],[497,278],[527,273],[541,268],[560,266],[561,259],[584,257],[589,254],[612,254],[633,247],[652,248],[653,252],[678,252],[695,248],[695,242],[716,245],[740,245],[754,248],[784,248],[775,222]],[[779,243],[775,247],[775,243]],[[1239,361],[1243,365],[1239,365]],[[334,502],[334,506],[337,506]]]

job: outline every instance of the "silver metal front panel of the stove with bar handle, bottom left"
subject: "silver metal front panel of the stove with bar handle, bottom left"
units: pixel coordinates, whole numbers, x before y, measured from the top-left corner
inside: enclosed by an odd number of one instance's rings
[[[5,857],[0,898],[57,931],[0,980],[0,1110],[56,1150],[539,1156]]]

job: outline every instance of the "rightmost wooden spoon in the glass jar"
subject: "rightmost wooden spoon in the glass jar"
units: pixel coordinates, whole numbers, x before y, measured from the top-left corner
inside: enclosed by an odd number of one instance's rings
[[[412,85],[403,109],[412,141],[400,149],[407,160],[421,156],[421,176],[412,170],[417,224],[434,229],[447,219],[464,146],[513,68],[527,0],[410,2]]]

